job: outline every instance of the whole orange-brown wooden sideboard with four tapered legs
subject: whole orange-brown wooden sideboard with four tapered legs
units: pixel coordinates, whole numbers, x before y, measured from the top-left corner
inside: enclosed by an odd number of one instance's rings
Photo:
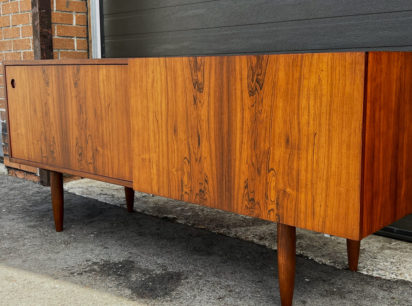
[[[5,61],[10,160],[295,227],[362,238],[412,213],[412,52]]]

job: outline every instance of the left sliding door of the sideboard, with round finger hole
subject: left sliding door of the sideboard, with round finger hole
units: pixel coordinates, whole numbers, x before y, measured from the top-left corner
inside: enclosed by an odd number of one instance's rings
[[[127,65],[6,66],[12,158],[132,180]]]

